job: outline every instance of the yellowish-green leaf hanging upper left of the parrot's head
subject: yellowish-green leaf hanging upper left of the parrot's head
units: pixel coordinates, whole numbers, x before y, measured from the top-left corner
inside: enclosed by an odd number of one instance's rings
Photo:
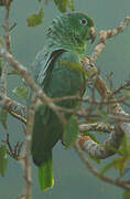
[[[44,20],[44,8],[42,8],[39,14],[30,15],[26,21],[29,27],[37,27],[43,23]]]

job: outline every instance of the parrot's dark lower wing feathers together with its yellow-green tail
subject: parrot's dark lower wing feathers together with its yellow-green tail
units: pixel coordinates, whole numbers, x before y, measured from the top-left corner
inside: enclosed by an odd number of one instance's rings
[[[43,104],[36,106],[31,154],[39,167],[39,181],[43,191],[54,186],[52,148],[61,137],[59,125],[51,108]]]

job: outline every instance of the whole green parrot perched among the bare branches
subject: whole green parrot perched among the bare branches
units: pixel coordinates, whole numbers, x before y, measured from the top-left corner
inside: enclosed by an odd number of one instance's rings
[[[86,13],[69,12],[54,19],[46,30],[46,44],[33,63],[33,76],[48,97],[84,94],[85,74],[62,63],[80,64],[86,55],[86,41],[95,40],[94,21]],[[66,108],[78,106],[76,101],[58,103]],[[71,114],[65,115],[66,119]],[[39,167],[41,189],[54,185],[52,149],[62,139],[63,124],[42,102],[37,103],[33,124],[31,153]],[[64,142],[64,140],[63,140]]]

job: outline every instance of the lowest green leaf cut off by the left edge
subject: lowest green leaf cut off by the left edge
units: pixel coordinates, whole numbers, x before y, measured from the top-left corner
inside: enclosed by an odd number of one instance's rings
[[[8,167],[7,149],[6,146],[2,145],[0,147],[0,175],[2,177],[4,177],[7,167]]]

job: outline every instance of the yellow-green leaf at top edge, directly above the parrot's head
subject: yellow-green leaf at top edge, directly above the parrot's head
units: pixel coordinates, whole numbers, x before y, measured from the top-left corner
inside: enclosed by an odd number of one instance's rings
[[[74,11],[74,0],[54,0],[55,6],[61,12],[67,12],[67,9]]]

